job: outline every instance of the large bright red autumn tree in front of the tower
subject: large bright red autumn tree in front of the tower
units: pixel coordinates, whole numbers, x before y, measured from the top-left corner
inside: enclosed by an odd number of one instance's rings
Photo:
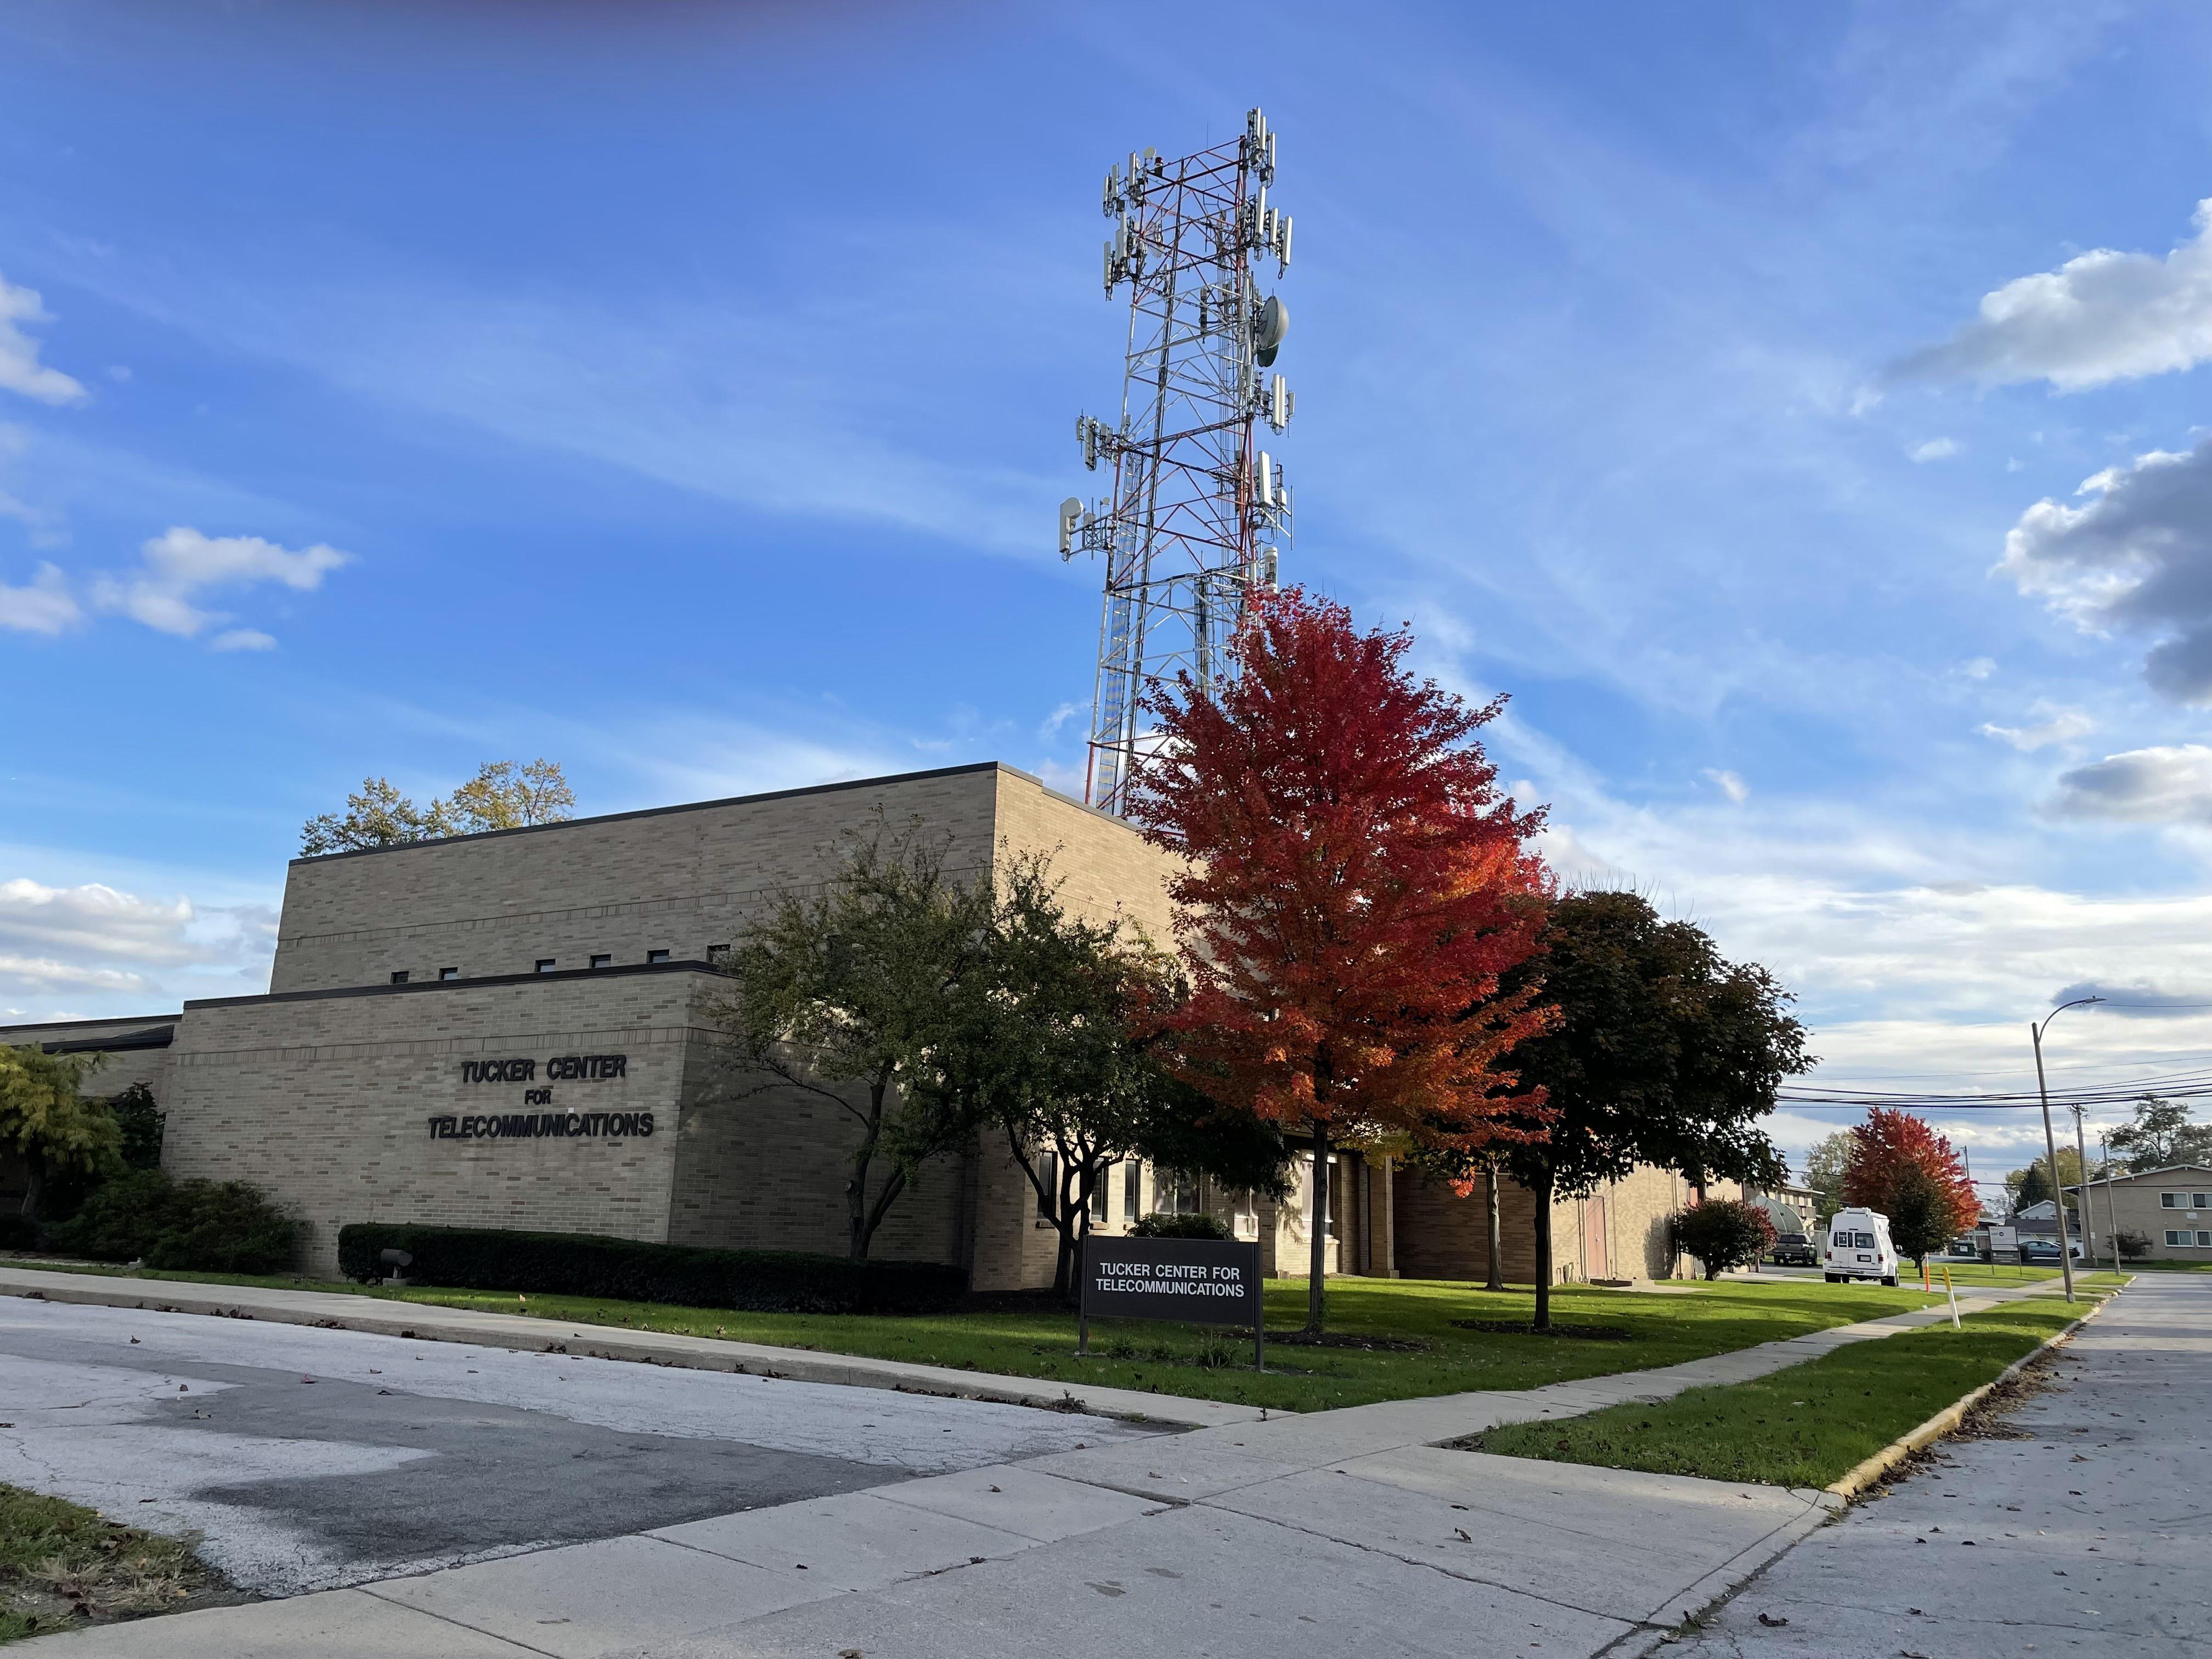
[[[1323,1325],[1329,1146],[1405,1135],[1471,1152],[1542,1135],[1542,1091],[1504,1068],[1544,1031],[1537,987],[1498,975],[1535,951],[1544,872],[1473,741],[1469,708],[1301,591],[1252,604],[1237,677],[1155,688],[1166,737],[1128,816],[1188,863],[1172,883],[1188,1000],[1177,1066],[1223,1106],[1314,1146],[1307,1325]],[[1533,1113],[1533,1115],[1531,1115]]]

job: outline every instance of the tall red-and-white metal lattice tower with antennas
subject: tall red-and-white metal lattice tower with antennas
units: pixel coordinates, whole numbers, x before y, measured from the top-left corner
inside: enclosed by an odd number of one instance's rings
[[[1254,591],[1272,588],[1290,544],[1290,487],[1259,449],[1283,431],[1290,387],[1274,365],[1290,321],[1263,299],[1256,263],[1290,270],[1290,217],[1267,201],[1274,133],[1259,111],[1232,144],[1181,159],[1130,155],[1106,175],[1106,296],[1128,283],[1121,418],[1082,416],[1084,465],[1113,493],[1060,507],[1060,555],[1106,555],[1091,763],[1084,799],[1119,814],[1157,739],[1146,681],[1228,675],[1228,644]]]

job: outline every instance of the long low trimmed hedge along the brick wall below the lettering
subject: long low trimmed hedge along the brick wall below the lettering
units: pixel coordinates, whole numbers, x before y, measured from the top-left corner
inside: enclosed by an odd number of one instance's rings
[[[706,1250],[588,1232],[500,1228],[338,1228],[338,1270],[383,1279],[385,1250],[414,1256],[407,1276],[451,1290],[734,1307],[757,1314],[933,1314],[967,1294],[967,1270],[927,1261],[849,1261],[801,1250]]]

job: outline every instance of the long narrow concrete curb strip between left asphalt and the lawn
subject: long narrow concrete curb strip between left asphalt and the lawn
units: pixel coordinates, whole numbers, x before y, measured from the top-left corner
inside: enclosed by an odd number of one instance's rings
[[[533,1314],[480,1314],[438,1303],[394,1303],[343,1292],[261,1290],[248,1285],[197,1285],[188,1281],[115,1279],[0,1265],[0,1296],[75,1303],[82,1307],[146,1307],[150,1312],[212,1314],[217,1318],[263,1318],[276,1325],[407,1336],[429,1343],[476,1343],[520,1354],[582,1354],[639,1365],[679,1365],[692,1371],[741,1371],[794,1383],[933,1394],[951,1400],[1026,1405],[1044,1411],[1091,1411],[1126,1422],[1157,1422],[1170,1429],[1214,1429],[1261,1422],[1261,1407],[1225,1400],[1186,1400],[1177,1394],[1137,1389],[1068,1387],[1033,1376],[956,1371],[940,1365],[902,1365],[858,1354],[816,1354],[803,1347],[732,1343],[719,1336],[672,1336],[630,1332],[613,1325],[571,1325]],[[1276,1413],[1281,1416],[1281,1413]]]

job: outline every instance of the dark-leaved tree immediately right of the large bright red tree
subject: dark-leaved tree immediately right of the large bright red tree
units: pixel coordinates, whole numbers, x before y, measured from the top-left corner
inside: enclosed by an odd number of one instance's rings
[[[1553,900],[1542,956],[1506,975],[1540,984],[1559,1022],[1520,1044],[1522,1086],[1546,1093],[1548,1135],[1504,1148],[1535,1194],[1535,1327],[1551,1327],[1551,1208],[1637,1164],[1783,1186],[1790,1168],[1759,1119],[1783,1077],[1805,1071],[1790,993],[1759,964],[1728,962],[1690,922],[1639,894]],[[1473,1175],[1473,1172],[1467,1172]]]

